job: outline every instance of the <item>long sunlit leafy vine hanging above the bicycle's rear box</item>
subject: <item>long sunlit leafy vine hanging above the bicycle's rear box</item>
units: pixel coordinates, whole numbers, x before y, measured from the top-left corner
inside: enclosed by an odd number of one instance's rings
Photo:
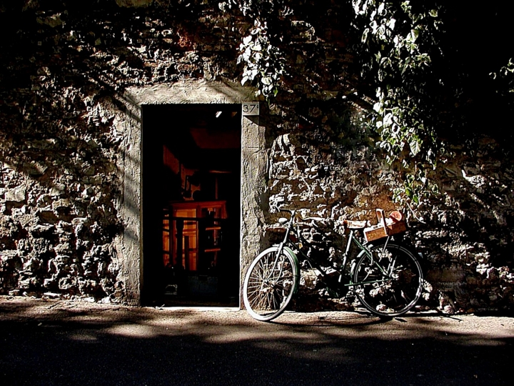
[[[374,77],[376,104],[373,120],[388,164],[403,170],[402,189],[394,196],[403,204],[418,205],[437,192],[430,182],[443,148],[428,121],[429,96],[425,93],[430,78],[430,50],[437,45],[441,21],[439,9],[430,2],[353,0],[363,51],[370,60],[363,76]]]

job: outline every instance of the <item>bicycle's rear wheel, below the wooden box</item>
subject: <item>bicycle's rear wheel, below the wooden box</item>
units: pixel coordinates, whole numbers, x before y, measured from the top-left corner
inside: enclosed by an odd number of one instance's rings
[[[378,316],[405,314],[418,302],[423,272],[418,259],[396,244],[372,245],[357,257],[353,272],[361,304]]]

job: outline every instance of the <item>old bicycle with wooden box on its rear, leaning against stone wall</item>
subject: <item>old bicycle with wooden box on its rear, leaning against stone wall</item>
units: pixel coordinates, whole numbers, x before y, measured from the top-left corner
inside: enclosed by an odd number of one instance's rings
[[[367,222],[346,221],[345,226],[350,230],[346,252],[342,254],[341,264],[334,264],[329,274],[316,259],[302,252],[302,246],[309,243],[300,232],[298,211],[280,210],[291,214],[289,219],[278,219],[286,231],[282,242],[258,254],[246,273],[243,301],[253,318],[270,321],[286,310],[300,280],[298,254],[303,262],[318,270],[328,288],[336,293],[353,289],[361,305],[378,317],[403,315],[418,302],[423,289],[420,262],[408,248],[390,240],[393,234],[405,230],[399,212],[385,219],[383,210],[377,209],[379,223],[374,227],[367,227]],[[359,241],[356,232],[363,232],[366,241]],[[352,260],[347,273],[352,245],[361,252]]]

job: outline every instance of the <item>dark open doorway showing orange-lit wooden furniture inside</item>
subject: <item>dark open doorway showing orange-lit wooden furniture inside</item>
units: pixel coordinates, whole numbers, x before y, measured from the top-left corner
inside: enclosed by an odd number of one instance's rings
[[[241,106],[142,109],[143,304],[238,305]]]

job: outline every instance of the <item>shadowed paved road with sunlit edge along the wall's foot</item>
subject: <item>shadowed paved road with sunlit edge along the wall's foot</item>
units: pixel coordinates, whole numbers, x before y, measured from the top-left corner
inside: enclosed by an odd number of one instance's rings
[[[512,385],[514,319],[0,297],[1,385]]]

